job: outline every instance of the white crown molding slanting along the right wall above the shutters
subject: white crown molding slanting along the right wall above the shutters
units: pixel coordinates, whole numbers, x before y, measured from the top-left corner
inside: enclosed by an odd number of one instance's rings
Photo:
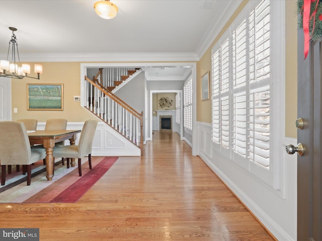
[[[225,24],[229,21],[232,14],[237,10],[238,6],[243,2],[243,0],[231,0],[231,1],[222,1],[223,5],[221,6],[220,14],[216,15],[199,43],[196,49],[196,55],[198,56],[198,60],[204,55],[207,49],[211,46],[215,38],[218,36],[220,31],[223,29]],[[220,3],[220,1],[218,2]]]

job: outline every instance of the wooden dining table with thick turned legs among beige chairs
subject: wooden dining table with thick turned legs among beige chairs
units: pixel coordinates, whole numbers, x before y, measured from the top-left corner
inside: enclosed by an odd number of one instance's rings
[[[55,143],[69,140],[70,145],[75,145],[77,133],[81,130],[36,130],[28,131],[30,145],[43,145],[46,149],[46,178],[51,181],[54,176],[54,156]],[[75,159],[71,160],[71,166],[75,166]]]

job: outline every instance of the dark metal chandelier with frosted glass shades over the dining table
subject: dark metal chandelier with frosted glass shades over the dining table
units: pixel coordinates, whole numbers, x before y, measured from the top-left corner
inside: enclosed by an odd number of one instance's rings
[[[30,74],[30,65],[22,64],[20,66],[18,43],[15,35],[17,29],[13,27],[9,27],[9,29],[12,31],[12,37],[9,41],[7,60],[0,60],[0,77],[8,77],[15,79],[22,79],[24,77],[28,77],[33,79],[39,79],[39,75],[42,74],[42,65],[35,64],[35,73],[38,74],[37,78],[28,76],[28,74]],[[11,54],[11,61],[9,61],[9,54]]]

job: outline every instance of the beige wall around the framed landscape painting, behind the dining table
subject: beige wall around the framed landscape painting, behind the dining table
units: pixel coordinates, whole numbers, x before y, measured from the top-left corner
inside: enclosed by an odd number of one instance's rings
[[[12,79],[12,120],[36,118],[45,122],[49,118],[66,118],[68,122],[84,122],[95,118],[81,107],[81,102],[73,101],[74,95],[81,95],[81,68],[76,62],[44,62],[43,74],[37,79]],[[84,78],[84,77],[83,77]],[[63,110],[27,110],[27,83],[63,83]]]

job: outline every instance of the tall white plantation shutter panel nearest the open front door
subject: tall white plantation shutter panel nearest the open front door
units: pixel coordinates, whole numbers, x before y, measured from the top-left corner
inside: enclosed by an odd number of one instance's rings
[[[249,158],[269,166],[270,147],[270,15],[269,1],[252,12],[250,23],[250,149]]]

